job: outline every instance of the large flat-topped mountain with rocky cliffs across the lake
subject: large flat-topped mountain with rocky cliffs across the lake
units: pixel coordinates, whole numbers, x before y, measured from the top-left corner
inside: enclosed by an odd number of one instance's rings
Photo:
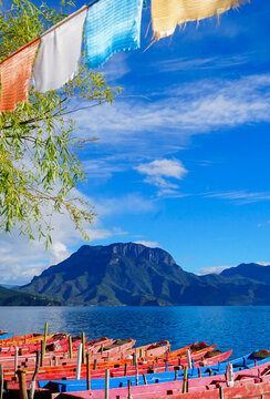
[[[270,285],[241,275],[196,276],[160,248],[82,246],[23,287],[66,305],[270,305]]]

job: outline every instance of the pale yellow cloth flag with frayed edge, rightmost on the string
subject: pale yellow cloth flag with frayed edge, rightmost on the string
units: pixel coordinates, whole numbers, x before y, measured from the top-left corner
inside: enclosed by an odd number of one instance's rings
[[[152,0],[154,38],[174,33],[177,24],[219,16],[248,0]]]

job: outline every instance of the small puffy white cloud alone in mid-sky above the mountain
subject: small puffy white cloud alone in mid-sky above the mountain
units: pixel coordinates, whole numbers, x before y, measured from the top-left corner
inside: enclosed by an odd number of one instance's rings
[[[156,186],[158,195],[177,194],[178,185],[167,178],[181,180],[187,174],[187,170],[179,160],[155,160],[139,164],[134,170],[146,175],[144,182]]]

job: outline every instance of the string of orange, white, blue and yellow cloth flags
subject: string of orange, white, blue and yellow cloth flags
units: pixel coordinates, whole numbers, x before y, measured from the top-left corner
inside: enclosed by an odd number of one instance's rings
[[[246,1],[152,0],[153,39],[173,34],[177,24],[220,14]],[[79,71],[83,39],[90,69],[101,66],[116,52],[138,49],[143,6],[145,0],[94,0],[3,60],[0,113],[28,101],[32,72],[39,93],[72,80]]]

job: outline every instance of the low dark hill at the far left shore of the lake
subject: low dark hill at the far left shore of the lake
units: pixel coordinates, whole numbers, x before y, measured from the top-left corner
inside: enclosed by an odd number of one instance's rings
[[[18,289],[0,286],[0,306],[50,306],[61,305],[59,300],[48,299],[37,294],[28,294]]]

